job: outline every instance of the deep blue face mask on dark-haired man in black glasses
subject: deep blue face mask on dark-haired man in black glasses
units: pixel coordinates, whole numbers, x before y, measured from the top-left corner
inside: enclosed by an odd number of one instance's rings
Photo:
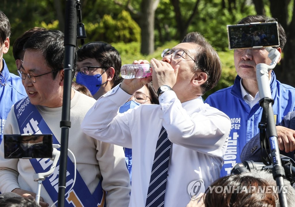
[[[104,74],[106,71],[104,71],[102,74]],[[81,72],[78,72],[76,76],[76,82],[79,84],[82,84],[86,86],[92,95],[96,94],[98,92],[101,85],[105,84],[106,82],[102,83],[102,74],[96,74],[96,75],[82,75]]]

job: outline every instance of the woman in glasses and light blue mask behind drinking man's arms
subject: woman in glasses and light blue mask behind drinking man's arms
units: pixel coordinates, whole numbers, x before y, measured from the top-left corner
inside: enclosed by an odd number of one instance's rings
[[[114,82],[112,88],[121,83],[124,79],[119,78]],[[133,109],[136,106],[141,104],[159,104],[158,95],[153,87],[153,84],[150,82],[145,84],[141,89],[137,90],[130,99],[119,108],[120,113],[124,113],[128,109]],[[131,175],[132,175],[132,149],[124,147],[125,160],[127,164],[127,168],[130,175],[130,183],[131,183]]]

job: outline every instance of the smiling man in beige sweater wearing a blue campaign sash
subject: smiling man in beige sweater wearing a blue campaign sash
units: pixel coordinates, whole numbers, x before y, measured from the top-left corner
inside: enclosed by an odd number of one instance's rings
[[[24,61],[18,73],[28,97],[12,107],[4,134],[52,133],[55,137],[53,143],[60,143],[59,120],[62,113],[64,84],[63,39],[62,32],[47,30],[37,32],[25,43]],[[76,69],[76,52],[74,60]],[[69,196],[65,196],[65,206],[70,206],[71,203],[75,206],[103,206],[105,195],[106,206],[128,206],[130,180],[122,147],[97,141],[80,129],[86,112],[94,102],[93,98],[71,90],[71,128],[68,149],[76,157],[77,178],[73,190]],[[28,110],[33,113],[27,113]],[[26,113],[27,117],[22,118]],[[41,119],[38,120],[38,117]],[[23,125],[20,124],[21,119],[24,122]],[[2,142],[0,145],[0,191],[14,192],[27,198],[35,197],[37,182],[33,180],[33,175],[40,168],[43,168],[43,172],[48,171],[46,167],[49,167],[49,164],[45,166],[47,161],[44,159],[4,159],[3,145]],[[73,161],[71,155],[68,157]],[[72,164],[72,162],[68,163]],[[52,176],[42,182],[40,199],[42,207],[52,205],[57,200],[58,169],[59,166]],[[67,171],[69,175],[66,192],[73,183],[71,176],[74,174],[69,167]],[[105,194],[104,191],[107,193]]]

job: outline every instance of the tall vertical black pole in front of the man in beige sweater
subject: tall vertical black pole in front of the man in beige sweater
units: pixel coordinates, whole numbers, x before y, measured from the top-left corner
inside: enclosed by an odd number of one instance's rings
[[[77,39],[77,9],[76,0],[66,0],[65,6],[65,61],[64,61],[64,86],[63,86],[63,108],[60,121],[61,147],[60,147],[60,168],[58,178],[58,207],[63,207],[65,202],[65,181],[68,157],[68,136],[71,106],[71,85],[74,63],[74,51]]]

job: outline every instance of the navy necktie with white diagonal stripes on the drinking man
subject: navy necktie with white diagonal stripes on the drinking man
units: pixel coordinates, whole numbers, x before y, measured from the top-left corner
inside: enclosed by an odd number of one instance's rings
[[[157,141],[146,207],[164,206],[171,141],[162,127]]]

